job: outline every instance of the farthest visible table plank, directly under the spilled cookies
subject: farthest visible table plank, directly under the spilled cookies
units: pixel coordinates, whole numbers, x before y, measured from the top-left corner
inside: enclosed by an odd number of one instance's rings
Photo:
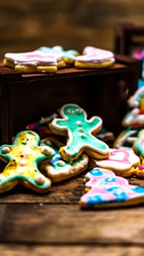
[[[87,171],[80,175],[52,184],[45,194],[37,194],[22,185],[15,187],[9,192],[0,194],[0,203],[69,203],[77,204],[84,193],[85,185],[83,178]],[[144,187],[143,178],[128,178],[129,184]]]

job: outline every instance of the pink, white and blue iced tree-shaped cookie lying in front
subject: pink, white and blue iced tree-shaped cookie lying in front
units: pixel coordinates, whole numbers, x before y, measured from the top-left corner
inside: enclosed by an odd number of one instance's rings
[[[129,184],[99,167],[86,174],[86,194],[80,198],[81,208],[113,208],[144,203],[144,188]]]

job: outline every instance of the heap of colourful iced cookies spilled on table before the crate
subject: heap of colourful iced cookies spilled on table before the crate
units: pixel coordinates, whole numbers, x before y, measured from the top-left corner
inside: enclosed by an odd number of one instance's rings
[[[132,149],[110,148],[96,136],[101,129],[102,118],[88,119],[86,111],[76,104],[63,105],[58,113],[29,124],[12,145],[0,146],[0,159],[6,163],[0,173],[0,193],[19,183],[45,193],[54,183],[91,170],[84,179],[86,193],[80,198],[81,208],[143,203],[144,188],[129,185],[124,177],[144,176],[140,147],[144,130]]]

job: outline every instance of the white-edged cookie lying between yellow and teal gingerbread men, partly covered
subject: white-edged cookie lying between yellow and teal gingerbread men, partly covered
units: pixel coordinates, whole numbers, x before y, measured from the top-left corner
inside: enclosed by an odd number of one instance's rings
[[[39,170],[42,170],[42,173],[45,173],[53,183],[72,178],[73,176],[82,173],[88,167],[88,155],[84,153],[73,162],[68,162],[62,159],[58,149],[59,146],[64,146],[64,144],[58,142],[56,138],[49,137],[42,140],[41,145],[49,145],[55,149],[53,159],[39,163]]]

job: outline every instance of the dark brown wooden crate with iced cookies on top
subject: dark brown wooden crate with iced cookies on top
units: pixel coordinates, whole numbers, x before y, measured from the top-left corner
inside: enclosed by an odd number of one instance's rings
[[[85,108],[88,118],[102,117],[103,126],[118,134],[126,99],[137,88],[141,69],[140,61],[125,56],[117,56],[107,69],[66,68],[53,75],[23,75],[1,64],[0,142],[10,143],[27,124],[69,102]]]

